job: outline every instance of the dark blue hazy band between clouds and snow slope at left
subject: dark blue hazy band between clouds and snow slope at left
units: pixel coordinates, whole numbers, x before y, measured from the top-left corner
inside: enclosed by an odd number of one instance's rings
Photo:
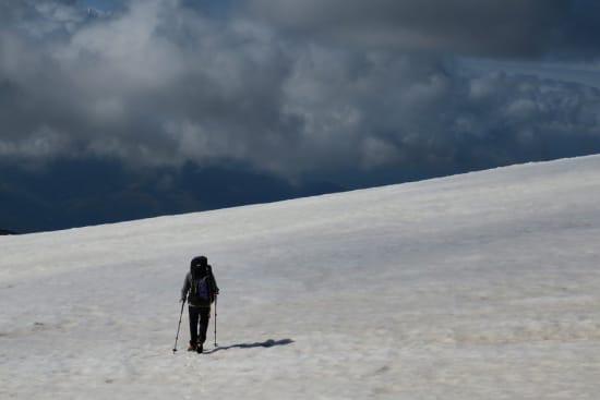
[[[1,86],[0,77],[0,104]],[[247,166],[201,168],[192,162],[180,169],[155,168],[140,174],[105,160],[55,161],[43,171],[0,165],[0,226],[19,234],[344,190],[321,180],[292,184],[274,174],[254,172]]]

